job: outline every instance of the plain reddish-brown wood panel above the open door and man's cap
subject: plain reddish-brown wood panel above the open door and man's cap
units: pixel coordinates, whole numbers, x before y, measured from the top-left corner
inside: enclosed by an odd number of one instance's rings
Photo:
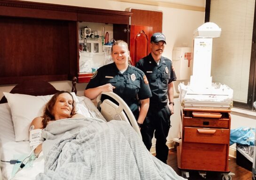
[[[131,25],[150,26],[153,32],[162,32],[162,12],[142,9],[131,9],[131,12]]]

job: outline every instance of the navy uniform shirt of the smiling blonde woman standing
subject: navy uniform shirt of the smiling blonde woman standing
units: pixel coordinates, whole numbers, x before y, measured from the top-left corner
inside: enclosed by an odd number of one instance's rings
[[[152,97],[146,76],[140,69],[133,66],[128,66],[123,74],[120,73],[115,63],[100,67],[90,79],[86,90],[107,83],[115,87],[113,92],[126,102],[136,119],[139,112],[137,95],[140,100]]]

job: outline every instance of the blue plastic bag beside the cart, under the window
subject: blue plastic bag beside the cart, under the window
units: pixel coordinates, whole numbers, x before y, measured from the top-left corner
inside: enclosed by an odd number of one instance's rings
[[[240,127],[230,130],[230,146],[233,143],[254,146],[255,128]]]

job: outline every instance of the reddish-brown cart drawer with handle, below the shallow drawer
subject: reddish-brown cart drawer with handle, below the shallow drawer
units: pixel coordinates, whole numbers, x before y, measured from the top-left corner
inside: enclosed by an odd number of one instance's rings
[[[184,127],[184,142],[228,144],[229,129]]]

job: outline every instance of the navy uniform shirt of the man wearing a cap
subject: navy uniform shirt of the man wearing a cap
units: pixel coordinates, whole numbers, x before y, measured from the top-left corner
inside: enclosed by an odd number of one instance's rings
[[[151,53],[139,60],[136,67],[147,76],[152,92],[150,104],[153,106],[166,105],[168,102],[168,84],[176,81],[175,71],[172,70],[172,61],[161,56],[159,65],[153,59]]]

